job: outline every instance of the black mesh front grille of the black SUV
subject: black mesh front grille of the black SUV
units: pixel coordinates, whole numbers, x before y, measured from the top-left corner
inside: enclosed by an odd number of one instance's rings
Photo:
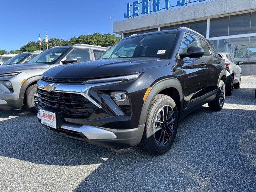
[[[89,118],[96,106],[80,94],[47,92],[38,89],[38,108],[63,111],[63,118]]]

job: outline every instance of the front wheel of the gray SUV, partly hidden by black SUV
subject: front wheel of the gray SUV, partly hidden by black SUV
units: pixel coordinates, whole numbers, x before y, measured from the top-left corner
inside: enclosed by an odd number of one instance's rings
[[[38,112],[38,108],[34,103],[34,97],[36,97],[36,94],[37,94],[36,84],[34,84],[29,88],[27,88],[26,94],[25,94],[25,100],[24,100],[24,105],[26,109],[34,114],[37,114]]]

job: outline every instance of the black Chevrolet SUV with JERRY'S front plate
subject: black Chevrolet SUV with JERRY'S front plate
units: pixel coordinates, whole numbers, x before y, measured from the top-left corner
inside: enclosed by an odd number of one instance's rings
[[[225,63],[197,32],[134,35],[99,60],[45,72],[37,83],[37,116],[60,136],[163,154],[180,119],[205,103],[222,109],[225,84]]]

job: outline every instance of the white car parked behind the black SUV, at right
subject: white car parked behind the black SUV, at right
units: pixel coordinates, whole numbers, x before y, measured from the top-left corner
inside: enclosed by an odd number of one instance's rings
[[[226,95],[232,95],[233,88],[240,88],[242,69],[239,65],[243,62],[236,62],[230,53],[218,52],[219,56],[225,60],[227,69]]]

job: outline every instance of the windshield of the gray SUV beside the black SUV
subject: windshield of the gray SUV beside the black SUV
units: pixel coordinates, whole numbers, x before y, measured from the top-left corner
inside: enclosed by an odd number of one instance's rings
[[[68,48],[52,48],[45,50],[38,56],[34,57],[28,63],[47,63],[53,64]]]

